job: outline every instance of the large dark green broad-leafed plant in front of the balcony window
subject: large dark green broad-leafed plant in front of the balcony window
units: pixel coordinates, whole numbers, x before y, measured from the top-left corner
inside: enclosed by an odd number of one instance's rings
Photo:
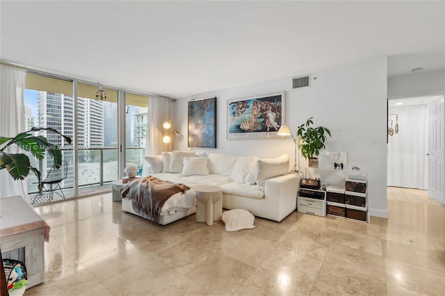
[[[33,135],[30,132],[34,131],[51,131],[61,135],[68,144],[71,144],[71,138],[66,135],[62,135],[55,129],[33,127],[30,131],[24,133],[18,133],[13,138],[0,137],[0,170],[6,169],[14,180],[23,180],[28,176],[29,172],[33,172],[37,176],[39,184],[39,192],[42,192],[43,184],[40,171],[31,166],[29,157],[23,153],[9,153],[9,147],[17,146],[24,151],[29,151],[39,161],[42,160],[45,154],[48,152],[54,159],[56,167],[60,167],[62,164],[62,151],[57,146],[48,142],[47,138],[43,135]]]

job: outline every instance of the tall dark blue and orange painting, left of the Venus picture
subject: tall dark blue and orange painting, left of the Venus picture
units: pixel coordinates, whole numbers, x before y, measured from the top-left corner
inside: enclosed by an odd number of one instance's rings
[[[188,102],[188,147],[216,148],[216,97]]]

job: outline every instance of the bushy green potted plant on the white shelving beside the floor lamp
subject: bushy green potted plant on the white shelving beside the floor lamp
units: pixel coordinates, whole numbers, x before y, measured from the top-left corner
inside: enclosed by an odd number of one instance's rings
[[[327,135],[331,136],[329,129],[324,126],[314,127],[312,121],[314,117],[310,117],[305,124],[298,126],[298,148],[301,155],[309,161],[309,167],[318,167],[318,154],[325,147]]]

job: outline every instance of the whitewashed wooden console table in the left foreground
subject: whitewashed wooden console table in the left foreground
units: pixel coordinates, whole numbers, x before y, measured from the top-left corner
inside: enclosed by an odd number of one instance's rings
[[[23,197],[0,198],[0,249],[4,253],[24,248],[26,288],[44,282],[45,241],[49,241],[49,225]]]

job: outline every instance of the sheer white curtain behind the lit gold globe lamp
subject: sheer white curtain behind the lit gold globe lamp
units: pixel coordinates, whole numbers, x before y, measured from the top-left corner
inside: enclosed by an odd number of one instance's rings
[[[171,100],[165,97],[153,96],[148,104],[147,140],[145,141],[145,156],[159,155],[169,151],[171,143],[165,144],[162,137],[165,133],[162,124],[170,121]]]

